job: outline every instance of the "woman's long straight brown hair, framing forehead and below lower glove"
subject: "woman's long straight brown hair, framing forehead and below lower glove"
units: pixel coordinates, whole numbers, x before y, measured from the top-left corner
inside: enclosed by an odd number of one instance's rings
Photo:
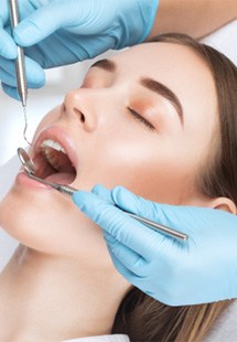
[[[184,34],[162,34],[151,42],[187,46],[208,66],[216,86],[220,131],[212,162],[202,168],[196,186],[208,197],[226,196],[237,204],[237,67],[215,49]],[[230,302],[169,307],[133,288],[117,312],[112,332],[127,333],[131,341],[202,341]]]

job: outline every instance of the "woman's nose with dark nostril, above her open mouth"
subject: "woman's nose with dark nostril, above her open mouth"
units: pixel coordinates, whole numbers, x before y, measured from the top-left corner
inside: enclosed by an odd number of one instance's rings
[[[66,94],[62,106],[62,111],[69,119],[75,120],[76,125],[91,132],[97,126],[97,117],[95,113],[93,97],[86,89],[74,89]]]

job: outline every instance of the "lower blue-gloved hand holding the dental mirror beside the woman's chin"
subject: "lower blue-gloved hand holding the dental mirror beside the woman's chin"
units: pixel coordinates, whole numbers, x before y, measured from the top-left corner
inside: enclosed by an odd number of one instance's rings
[[[237,297],[237,217],[212,209],[155,204],[123,188],[74,194],[75,204],[105,233],[118,271],[170,306]],[[119,207],[186,233],[186,242],[154,232]]]

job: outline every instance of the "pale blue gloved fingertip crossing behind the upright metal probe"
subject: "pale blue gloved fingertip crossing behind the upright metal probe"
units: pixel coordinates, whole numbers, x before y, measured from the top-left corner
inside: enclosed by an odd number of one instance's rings
[[[11,87],[17,86],[15,64],[14,61],[0,58],[0,67],[2,71],[1,81]],[[6,73],[3,74],[3,71]],[[33,60],[25,56],[25,73],[29,88],[41,88],[45,84],[45,73],[43,68]]]

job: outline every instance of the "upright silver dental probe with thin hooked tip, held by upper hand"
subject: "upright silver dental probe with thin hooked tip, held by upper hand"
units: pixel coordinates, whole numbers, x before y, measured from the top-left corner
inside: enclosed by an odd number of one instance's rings
[[[9,0],[9,9],[10,9],[10,19],[11,19],[11,29],[13,33],[13,29],[20,22],[19,15],[19,8],[18,8],[18,0]],[[28,119],[26,119],[26,99],[28,99],[28,85],[26,85],[26,76],[25,76],[25,65],[24,65],[24,52],[23,49],[18,46],[18,58],[15,60],[15,75],[17,75],[17,85],[18,85],[18,93],[21,98],[23,114],[24,114],[24,131],[23,137],[24,140],[29,142],[26,138],[26,129],[28,129]]]

